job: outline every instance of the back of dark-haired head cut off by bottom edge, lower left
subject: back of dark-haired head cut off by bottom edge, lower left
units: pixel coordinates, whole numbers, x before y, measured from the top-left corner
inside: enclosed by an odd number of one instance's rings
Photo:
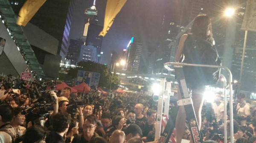
[[[37,143],[44,140],[46,132],[41,126],[32,126],[26,130],[23,136],[23,143]]]

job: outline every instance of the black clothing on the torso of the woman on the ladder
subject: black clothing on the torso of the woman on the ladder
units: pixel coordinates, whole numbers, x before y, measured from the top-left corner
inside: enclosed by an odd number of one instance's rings
[[[195,40],[192,34],[186,39],[186,54],[183,62],[189,64],[221,65],[215,46],[204,39]],[[215,85],[220,77],[220,68],[184,66],[185,79],[190,85]]]

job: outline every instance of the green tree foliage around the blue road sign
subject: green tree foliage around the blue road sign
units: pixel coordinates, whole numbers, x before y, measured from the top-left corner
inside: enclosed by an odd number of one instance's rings
[[[73,69],[71,68],[68,71],[68,76],[76,78],[78,70],[100,73],[99,87],[107,87],[107,88],[110,87],[112,73],[109,72],[108,66],[104,64],[91,62],[91,61],[87,61],[87,62],[81,61],[78,63],[78,66],[79,67],[76,67]],[[120,78],[116,74],[113,74],[111,89],[117,89],[118,84],[120,84]]]

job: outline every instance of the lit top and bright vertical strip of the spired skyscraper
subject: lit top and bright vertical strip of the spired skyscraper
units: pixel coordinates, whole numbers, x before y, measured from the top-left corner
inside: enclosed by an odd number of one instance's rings
[[[93,6],[91,6],[90,8],[87,8],[84,11],[84,16],[85,16],[85,20],[84,20],[84,31],[83,34],[81,36],[81,40],[84,42],[86,42],[86,38],[87,38],[87,34],[88,34],[88,28],[90,26],[90,24],[95,24],[97,25],[98,23],[98,11],[96,9],[95,6],[96,0],[93,1]]]

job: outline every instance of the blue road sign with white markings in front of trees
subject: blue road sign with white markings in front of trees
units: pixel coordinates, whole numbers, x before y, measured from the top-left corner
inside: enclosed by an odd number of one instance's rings
[[[98,87],[100,73],[78,70],[76,85],[85,82],[89,87]]]

